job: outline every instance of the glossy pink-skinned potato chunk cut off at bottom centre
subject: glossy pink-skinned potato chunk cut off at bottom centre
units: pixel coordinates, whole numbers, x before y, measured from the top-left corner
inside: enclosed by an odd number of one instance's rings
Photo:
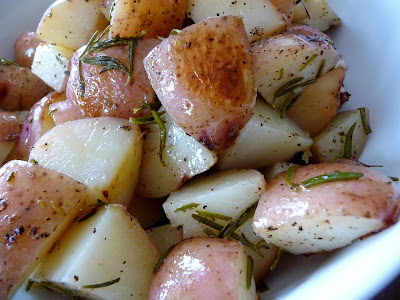
[[[150,300],[257,299],[247,283],[247,255],[240,242],[192,238],[175,246],[154,274]]]

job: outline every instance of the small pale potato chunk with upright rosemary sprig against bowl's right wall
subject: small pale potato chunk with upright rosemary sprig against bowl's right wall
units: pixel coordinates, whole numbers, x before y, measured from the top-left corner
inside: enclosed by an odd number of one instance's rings
[[[365,108],[365,113],[366,122],[369,123],[368,108]],[[354,124],[356,125],[351,139],[351,158],[357,160],[367,142],[367,133],[363,125],[360,109],[338,113],[326,129],[314,137],[314,144],[311,147],[313,158],[317,162],[328,162],[335,157],[343,157],[346,138]]]

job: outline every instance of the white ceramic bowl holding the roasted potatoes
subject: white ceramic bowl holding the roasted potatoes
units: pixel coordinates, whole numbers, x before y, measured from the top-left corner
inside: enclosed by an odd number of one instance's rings
[[[20,32],[34,31],[51,0],[0,0],[0,57],[12,58]],[[12,3],[12,4],[11,4]],[[329,34],[348,65],[352,94],[343,109],[369,107],[373,133],[360,160],[400,177],[400,2],[330,0],[342,25]],[[282,258],[263,299],[368,299],[400,273],[400,223],[330,254]],[[20,291],[16,299],[56,299]],[[61,298],[61,297],[60,297]],[[65,299],[62,298],[62,299]]]

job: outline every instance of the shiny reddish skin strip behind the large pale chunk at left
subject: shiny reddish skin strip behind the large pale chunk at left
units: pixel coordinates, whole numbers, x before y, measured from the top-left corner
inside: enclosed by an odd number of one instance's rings
[[[49,105],[65,100],[65,93],[49,93],[47,96],[36,102],[24,123],[22,124],[19,138],[7,160],[27,160],[35,142],[49,129],[55,126]]]

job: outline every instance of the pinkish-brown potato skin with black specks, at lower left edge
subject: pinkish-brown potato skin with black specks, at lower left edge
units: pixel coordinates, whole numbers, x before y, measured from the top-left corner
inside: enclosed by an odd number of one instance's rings
[[[11,298],[85,203],[85,186],[35,164],[0,168],[0,299]]]

